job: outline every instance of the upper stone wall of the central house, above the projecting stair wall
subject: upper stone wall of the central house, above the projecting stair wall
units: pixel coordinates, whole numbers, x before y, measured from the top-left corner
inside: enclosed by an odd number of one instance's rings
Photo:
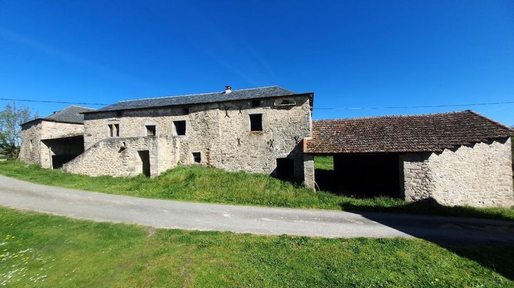
[[[119,125],[121,138],[143,137],[145,126],[155,125],[156,136],[169,137],[180,147],[175,154],[183,165],[194,163],[193,152],[199,152],[203,165],[274,174],[277,158],[292,158],[295,176],[303,180],[302,139],[311,136],[308,97],[295,97],[295,104],[286,107],[275,106],[275,101],[262,99],[259,107],[252,107],[251,100],[197,104],[187,107],[186,115],[184,107],[87,113],[84,147],[109,139],[112,124]],[[261,132],[250,131],[252,114],[262,114]],[[176,134],[173,121],[186,121],[185,136]],[[125,172],[112,170],[107,174],[121,176]]]

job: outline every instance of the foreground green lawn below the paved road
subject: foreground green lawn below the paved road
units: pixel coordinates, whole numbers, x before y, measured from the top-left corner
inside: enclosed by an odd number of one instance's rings
[[[0,286],[508,287],[514,247],[155,230],[0,208]]]

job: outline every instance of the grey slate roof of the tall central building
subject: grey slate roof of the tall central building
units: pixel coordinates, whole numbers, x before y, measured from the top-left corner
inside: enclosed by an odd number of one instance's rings
[[[256,99],[256,98],[277,97],[277,96],[286,96],[286,95],[297,95],[297,93],[294,93],[293,91],[284,89],[279,86],[269,86],[269,87],[261,87],[261,88],[234,90],[231,93],[225,93],[223,91],[223,92],[215,92],[215,93],[204,93],[204,94],[182,95],[182,96],[173,96],[173,97],[159,97],[159,98],[147,98],[147,99],[119,101],[115,104],[103,107],[101,109],[98,109],[98,110],[95,110],[92,112],[163,107],[163,106],[178,106],[178,105],[189,105],[189,104],[203,104],[203,103],[213,103],[213,102],[221,102],[221,101]],[[312,100],[311,100],[311,103],[312,103]]]

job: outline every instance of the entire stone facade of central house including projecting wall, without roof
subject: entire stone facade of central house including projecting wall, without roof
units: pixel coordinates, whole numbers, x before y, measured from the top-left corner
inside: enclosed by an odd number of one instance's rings
[[[292,104],[277,106],[283,99]],[[63,168],[95,176],[130,176],[139,172],[136,152],[148,150],[158,159],[151,160],[152,176],[177,163],[195,163],[193,153],[200,154],[202,165],[271,175],[276,175],[278,158],[290,158],[297,180],[304,180],[305,173],[313,175],[312,159],[304,166],[302,153],[302,139],[311,136],[308,96],[263,98],[258,107],[252,100],[230,101],[230,95],[227,100],[194,104],[186,112],[180,106],[89,112],[84,117],[86,151]],[[262,131],[250,129],[250,115],[256,114],[262,115]],[[177,135],[174,121],[186,122],[185,135]],[[110,125],[119,127],[119,136],[114,132],[111,137]],[[147,136],[147,126],[155,126],[155,136]],[[119,152],[123,143],[126,152]],[[164,143],[169,145],[160,149]]]

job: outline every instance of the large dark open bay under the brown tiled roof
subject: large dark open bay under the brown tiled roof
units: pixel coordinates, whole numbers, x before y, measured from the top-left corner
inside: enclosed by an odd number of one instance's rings
[[[315,157],[319,189],[352,197],[402,197],[398,154],[334,154]]]

